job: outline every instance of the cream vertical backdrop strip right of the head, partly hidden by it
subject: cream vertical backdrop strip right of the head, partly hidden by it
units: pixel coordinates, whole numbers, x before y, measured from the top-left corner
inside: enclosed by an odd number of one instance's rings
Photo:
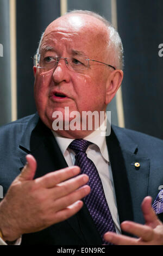
[[[117,1],[111,0],[111,23],[117,29]],[[123,100],[122,100],[122,89],[118,89],[116,94],[116,105],[118,115],[118,125],[124,127],[124,112],[123,112]]]

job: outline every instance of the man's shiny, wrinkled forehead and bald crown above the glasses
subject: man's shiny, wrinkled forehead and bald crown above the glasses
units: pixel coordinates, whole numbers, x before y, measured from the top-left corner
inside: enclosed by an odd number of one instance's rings
[[[61,54],[60,50],[66,47],[70,54],[74,49],[83,51],[81,55],[103,59],[108,51],[108,40],[107,28],[97,18],[85,14],[65,15],[47,27],[40,50],[51,46]]]

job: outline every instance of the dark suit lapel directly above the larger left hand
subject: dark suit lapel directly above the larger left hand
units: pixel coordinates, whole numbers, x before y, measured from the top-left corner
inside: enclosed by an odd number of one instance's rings
[[[26,155],[32,154],[37,161],[35,178],[38,178],[48,172],[67,167],[67,163],[51,130],[39,118],[37,118],[37,123],[35,122],[35,127],[32,125],[33,121],[29,123],[21,140],[21,162],[24,165]]]

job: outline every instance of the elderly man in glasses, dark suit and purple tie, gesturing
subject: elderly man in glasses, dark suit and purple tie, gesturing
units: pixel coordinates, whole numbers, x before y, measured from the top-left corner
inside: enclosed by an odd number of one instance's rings
[[[95,125],[82,129],[82,113],[106,112],[120,87],[122,49],[110,23],[89,11],[46,28],[34,57],[37,114],[0,131],[1,241],[163,245],[151,206],[163,184],[163,142],[115,126],[105,137]]]

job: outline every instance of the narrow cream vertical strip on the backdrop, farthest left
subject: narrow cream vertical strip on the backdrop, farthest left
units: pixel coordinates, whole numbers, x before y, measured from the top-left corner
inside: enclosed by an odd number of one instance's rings
[[[16,1],[10,0],[11,120],[17,119]]]

